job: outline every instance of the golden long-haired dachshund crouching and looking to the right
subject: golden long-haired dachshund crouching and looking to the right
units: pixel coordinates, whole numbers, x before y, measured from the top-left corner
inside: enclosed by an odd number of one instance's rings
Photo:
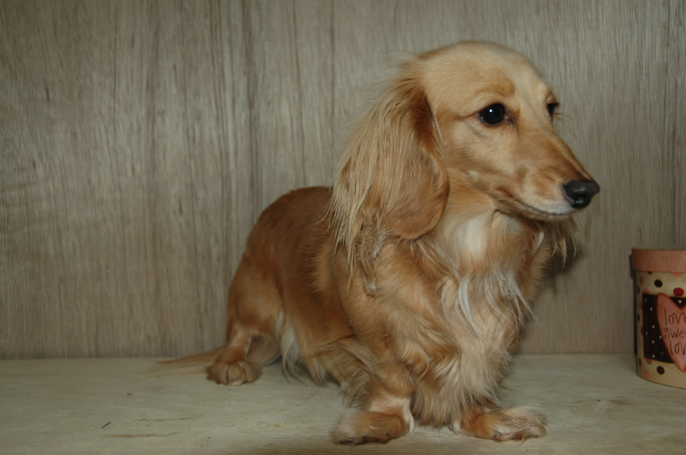
[[[340,443],[421,425],[498,441],[545,434],[495,404],[543,267],[598,185],[554,130],[523,56],[461,42],[405,62],[357,120],[333,188],[292,191],[257,221],[209,378],[333,378],[359,409]]]

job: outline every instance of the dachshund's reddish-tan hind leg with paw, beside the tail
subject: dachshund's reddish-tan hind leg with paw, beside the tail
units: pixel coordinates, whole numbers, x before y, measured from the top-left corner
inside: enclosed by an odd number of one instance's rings
[[[228,341],[207,368],[207,379],[239,385],[259,378],[262,367],[279,355],[281,308],[274,284],[244,256],[228,297]]]

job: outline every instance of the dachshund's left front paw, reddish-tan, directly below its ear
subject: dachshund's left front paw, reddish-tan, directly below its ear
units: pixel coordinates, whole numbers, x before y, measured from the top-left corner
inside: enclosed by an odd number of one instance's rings
[[[333,431],[333,440],[341,444],[385,444],[403,436],[408,430],[399,415],[360,411],[338,423]]]

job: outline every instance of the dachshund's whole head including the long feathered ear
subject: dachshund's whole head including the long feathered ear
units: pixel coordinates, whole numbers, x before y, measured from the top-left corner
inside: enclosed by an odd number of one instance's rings
[[[599,188],[556,134],[557,105],[528,60],[497,45],[410,60],[353,129],[334,185],[340,240],[418,238],[467,194],[514,216],[567,219]]]

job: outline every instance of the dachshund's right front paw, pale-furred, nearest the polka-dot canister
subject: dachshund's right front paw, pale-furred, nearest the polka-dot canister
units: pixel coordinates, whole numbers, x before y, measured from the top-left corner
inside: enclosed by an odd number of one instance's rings
[[[472,413],[456,423],[454,430],[494,441],[521,441],[544,436],[545,423],[545,416],[536,412],[534,406],[517,406]]]

